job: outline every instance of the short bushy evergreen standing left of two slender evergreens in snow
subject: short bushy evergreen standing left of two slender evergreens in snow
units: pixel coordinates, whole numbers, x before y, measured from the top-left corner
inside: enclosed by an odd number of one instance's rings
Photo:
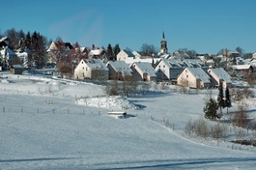
[[[205,118],[214,120],[218,118],[217,116],[217,103],[214,99],[209,99],[209,101],[206,103],[206,106],[204,107],[204,113]]]

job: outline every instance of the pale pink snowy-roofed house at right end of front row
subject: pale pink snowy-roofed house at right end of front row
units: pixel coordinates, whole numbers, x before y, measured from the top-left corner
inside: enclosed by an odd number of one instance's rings
[[[220,82],[222,82],[223,88],[232,85],[231,76],[222,68],[209,69],[208,73],[211,77],[212,87],[219,86]]]

